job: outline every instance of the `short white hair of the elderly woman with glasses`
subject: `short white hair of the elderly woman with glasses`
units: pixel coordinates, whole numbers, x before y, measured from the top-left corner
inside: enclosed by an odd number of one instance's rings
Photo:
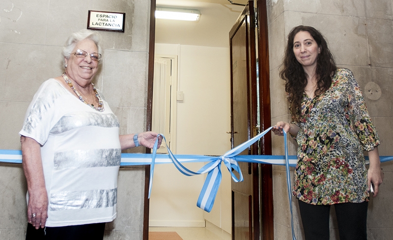
[[[68,37],[67,41],[65,41],[64,47],[63,47],[63,56],[66,59],[70,59],[70,54],[72,50],[74,50],[75,45],[84,40],[84,39],[90,39],[95,43],[98,49],[99,54],[103,54],[103,49],[101,48],[100,41],[101,41],[101,35],[98,34],[98,32],[83,29],[77,32],[74,32],[71,34],[70,37]],[[101,62],[101,61],[99,61]]]

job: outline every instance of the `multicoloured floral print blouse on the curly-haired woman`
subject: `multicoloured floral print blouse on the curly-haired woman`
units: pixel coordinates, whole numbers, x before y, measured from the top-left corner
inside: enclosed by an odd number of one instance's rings
[[[314,205],[368,201],[363,151],[380,141],[352,72],[337,69],[332,86],[304,94],[301,106],[293,195]]]

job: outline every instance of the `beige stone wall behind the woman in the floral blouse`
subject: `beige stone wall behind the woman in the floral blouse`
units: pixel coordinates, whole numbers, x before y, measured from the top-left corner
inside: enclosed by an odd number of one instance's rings
[[[381,137],[380,155],[393,155],[393,9],[391,0],[268,0],[270,83],[272,124],[289,120],[283,81],[279,78],[286,36],[298,25],[309,25],[327,38],[338,66],[353,71],[365,92],[369,82],[382,90],[378,100],[365,97],[368,111]],[[292,140],[290,154],[296,154]],[[273,136],[273,153],[283,154],[282,139]],[[393,162],[383,163],[385,179],[377,198],[369,202],[367,218],[368,239],[388,240],[393,235]],[[285,172],[273,168],[275,239],[290,239]],[[293,178],[293,175],[292,175]],[[292,179],[293,181],[293,179]],[[292,201],[296,237],[304,239],[297,202]],[[337,222],[332,211],[331,239],[338,239]]]

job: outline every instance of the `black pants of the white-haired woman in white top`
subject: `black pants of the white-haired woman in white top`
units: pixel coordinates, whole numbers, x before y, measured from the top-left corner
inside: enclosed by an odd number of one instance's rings
[[[102,240],[105,222],[35,229],[28,223],[26,240]]]

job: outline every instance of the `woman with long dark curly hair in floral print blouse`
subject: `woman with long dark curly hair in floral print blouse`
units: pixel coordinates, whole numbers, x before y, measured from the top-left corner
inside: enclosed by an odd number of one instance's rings
[[[350,70],[336,67],[322,34],[308,26],[289,33],[280,77],[292,121],[278,122],[274,133],[290,133],[299,145],[293,195],[306,240],[329,240],[333,204],[340,239],[366,240],[369,190],[377,196],[383,173],[379,137],[358,83]]]

